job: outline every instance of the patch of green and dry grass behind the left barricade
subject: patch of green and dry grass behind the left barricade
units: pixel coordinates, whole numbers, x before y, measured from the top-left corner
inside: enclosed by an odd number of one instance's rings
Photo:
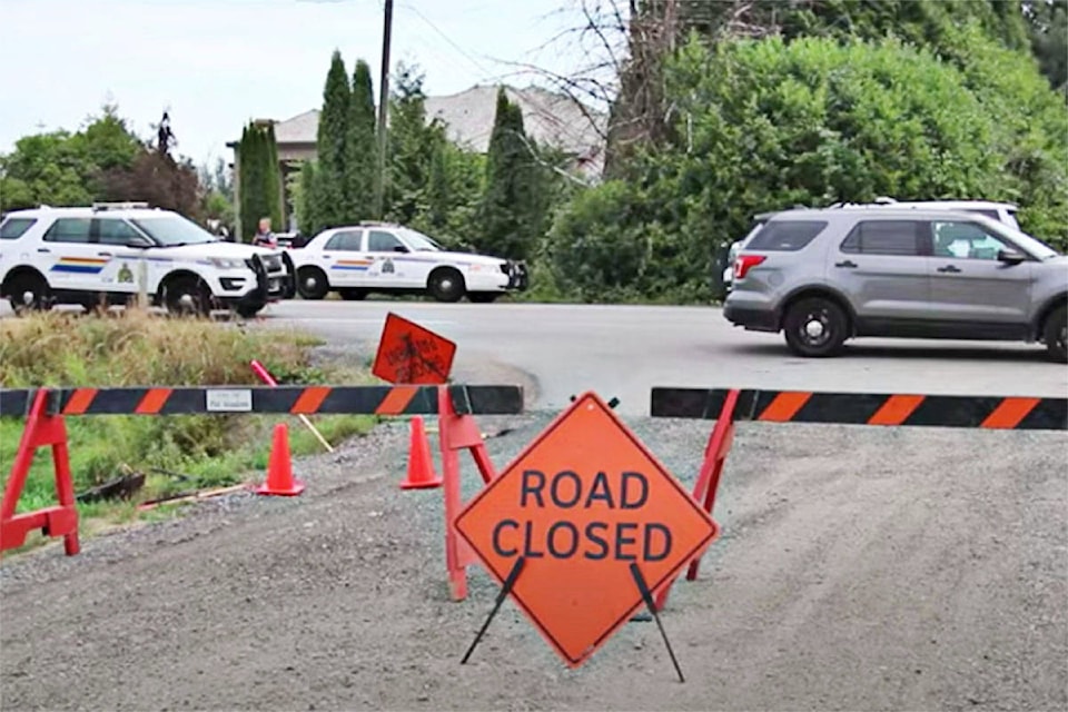
[[[299,332],[255,330],[208,319],[170,319],[135,309],[107,316],[51,312],[0,322],[0,385],[197,386],[259,385],[249,362],[259,359],[279,383],[372,383],[367,370],[317,367],[313,348],[323,342]],[[364,434],[374,416],[313,417],[332,445]],[[131,472],[144,488],[131,501],[78,503],[92,531],[138,518],[147,500],[263,477],[276,423],[289,424],[291,453],[323,452],[295,417],[277,415],[72,416],[67,418],[77,493]],[[0,473],[9,476],[22,418],[0,418]],[[6,484],[6,482],[4,482]],[[40,448],[27,478],[19,512],[56,503],[51,454]],[[29,541],[29,540],[28,540]]]

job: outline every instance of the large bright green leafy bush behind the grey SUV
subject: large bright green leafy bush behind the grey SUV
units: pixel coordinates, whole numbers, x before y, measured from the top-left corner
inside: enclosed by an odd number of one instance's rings
[[[1064,245],[1068,111],[1026,52],[978,22],[947,30],[939,53],[694,37],[664,78],[671,140],[551,230],[552,275],[578,298],[708,300],[716,255],[754,214],[879,195],[1017,200],[1025,229]]]

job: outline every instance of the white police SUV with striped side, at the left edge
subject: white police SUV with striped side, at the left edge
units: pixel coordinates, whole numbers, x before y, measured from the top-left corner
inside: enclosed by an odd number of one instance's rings
[[[175,314],[225,308],[250,317],[295,293],[283,250],[220,240],[146,204],[42,206],[0,222],[0,298],[19,313],[128,304],[142,269],[150,304]]]

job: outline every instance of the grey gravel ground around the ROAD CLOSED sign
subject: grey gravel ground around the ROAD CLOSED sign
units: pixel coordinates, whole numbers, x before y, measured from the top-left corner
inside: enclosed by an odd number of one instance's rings
[[[498,467],[552,414],[483,418]],[[688,486],[710,424],[634,421]],[[1062,433],[743,424],[721,540],[663,614],[568,671],[496,586],[449,602],[406,428],[300,459],[296,498],[0,566],[3,710],[1065,710]],[[436,441],[435,441],[436,447]],[[476,487],[465,473],[467,496]]]

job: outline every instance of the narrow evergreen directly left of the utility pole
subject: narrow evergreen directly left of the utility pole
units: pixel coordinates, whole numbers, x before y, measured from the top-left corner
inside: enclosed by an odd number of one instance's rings
[[[352,222],[375,216],[375,184],[378,175],[378,146],[375,139],[375,93],[370,67],[357,60],[353,72],[348,142],[345,159],[348,197],[347,219]]]

